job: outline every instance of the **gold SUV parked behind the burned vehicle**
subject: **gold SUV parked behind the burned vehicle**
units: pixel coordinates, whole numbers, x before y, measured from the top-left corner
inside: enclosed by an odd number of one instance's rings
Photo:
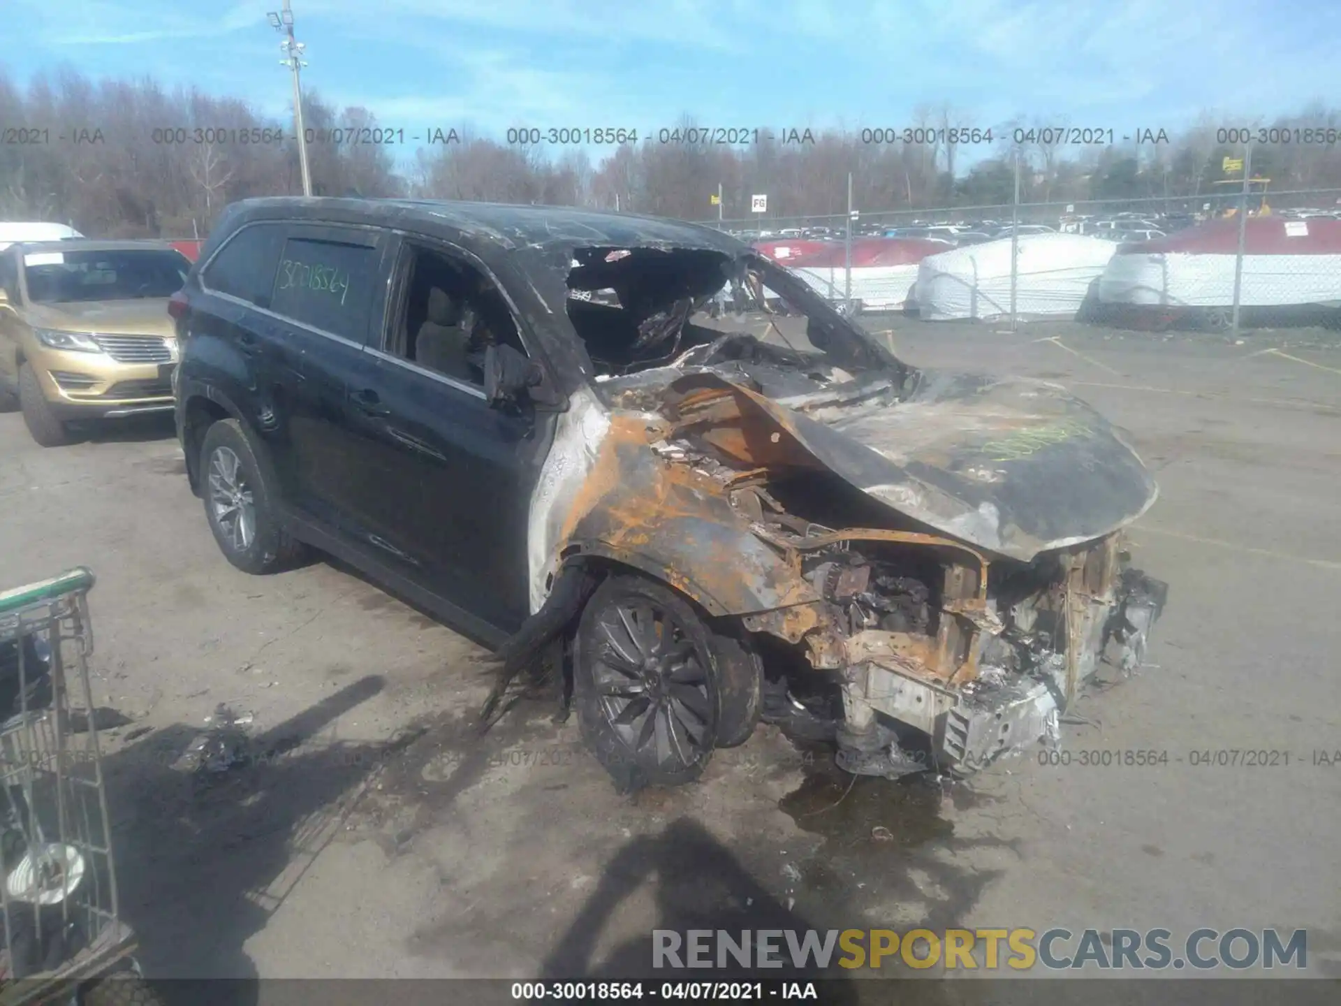
[[[168,298],[190,262],[160,241],[62,240],[0,252],[0,410],[43,447],[71,420],[172,412]]]

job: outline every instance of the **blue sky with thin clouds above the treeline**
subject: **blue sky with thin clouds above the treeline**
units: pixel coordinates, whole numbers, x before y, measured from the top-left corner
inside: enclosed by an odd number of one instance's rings
[[[149,72],[288,114],[279,0],[5,0],[4,68]],[[1120,131],[1337,103],[1337,0],[294,0],[304,82],[384,126]],[[12,43],[21,44],[12,44]],[[1330,87],[1328,83],[1330,82]],[[165,123],[172,125],[172,123]]]

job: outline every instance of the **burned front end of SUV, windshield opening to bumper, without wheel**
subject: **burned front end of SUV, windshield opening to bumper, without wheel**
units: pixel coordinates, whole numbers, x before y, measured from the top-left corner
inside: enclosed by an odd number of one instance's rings
[[[1089,406],[909,368],[752,255],[650,252],[640,283],[638,249],[587,251],[570,287],[613,303],[569,315],[605,417],[551,500],[554,569],[641,569],[789,648],[764,672],[831,688],[858,774],[1055,742],[1105,655],[1140,665],[1167,586],[1122,539],[1156,488]],[[754,330],[704,323],[715,296]]]

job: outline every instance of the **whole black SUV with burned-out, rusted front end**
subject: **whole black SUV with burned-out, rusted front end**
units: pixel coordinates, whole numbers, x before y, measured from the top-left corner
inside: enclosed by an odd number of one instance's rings
[[[170,311],[228,559],[315,546],[504,675],[558,657],[622,786],[696,778],[760,716],[827,718],[849,771],[971,771],[1055,739],[1164,602],[1122,547],[1156,487],[1104,418],[913,368],[716,231],[253,200]]]

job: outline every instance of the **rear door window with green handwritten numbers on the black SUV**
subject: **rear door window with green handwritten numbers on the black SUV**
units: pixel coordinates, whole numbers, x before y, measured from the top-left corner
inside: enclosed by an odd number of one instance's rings
[[[291,237],[275,272],[271,310],[362,343],[377,264],[374,245]]]

